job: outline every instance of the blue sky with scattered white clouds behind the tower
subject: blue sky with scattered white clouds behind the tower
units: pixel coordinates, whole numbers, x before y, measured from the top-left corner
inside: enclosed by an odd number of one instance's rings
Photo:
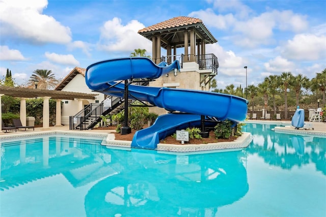
[[[36,69],[58,79],[74,67],[151,55],[137,32],[177,16],[200,18],[219,41],[206,53],[219,58],[218,88],[248,85],[282,72],[308,78],[326,68],[326,1],[0,1],[0,73],[25,84]],[[163,54],[162,54],[163,55]]]

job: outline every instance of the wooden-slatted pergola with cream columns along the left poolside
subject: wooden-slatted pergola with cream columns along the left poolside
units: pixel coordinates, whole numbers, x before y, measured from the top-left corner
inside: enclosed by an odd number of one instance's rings
[[[26,126],[26,98],[42,97],[43,102],[43,128],[42,130],[49,129],[49,99],[57,100],[56,105],[56,127],[61,125],[61,100],[74,100],[79,101],[80,110],[83,108],[83,99],[94,100],[98,94],[84,94],[82,92],[68,92],[61,90],[47,90],[47,89],[30,89],[24,87],[10,87],[0,85],[0,105],[1,96],[8,95],[20,98],[20,121],[23,126]],[[0,113],[1,113],[0,106]],[[2,114],[0,115],[2,119]]]

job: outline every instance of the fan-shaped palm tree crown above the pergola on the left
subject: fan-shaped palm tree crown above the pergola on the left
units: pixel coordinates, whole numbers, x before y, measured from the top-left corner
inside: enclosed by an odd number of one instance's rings
[[[37,86],[39,89],[51,89],[59,83],[52,71],[46,69],[35,70],[30,77],[29,83],[34,85],[35,80],[39,81]]]

